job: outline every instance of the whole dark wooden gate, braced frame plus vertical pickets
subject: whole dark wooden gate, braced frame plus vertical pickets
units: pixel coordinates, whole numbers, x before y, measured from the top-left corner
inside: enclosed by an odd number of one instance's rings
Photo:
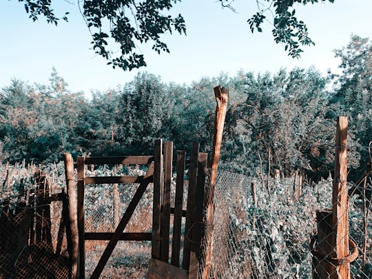
[[[77,216],[79,230],[79,278],[85,278],[85,240],[109,240],[91,278],[99,278],[118,240],[152,241],[152,259],[148,278],[196,278],[200,238],[203,229],[203,196],[207,154],[199,153],[194,143],[189,164],[187,208],[183,209],[185,177],[185,151],[178,151],[176,159],[176,194],[171,197],[173,174],[173,143],[156,140],[154,156],[78,157],[77,158]],[[85,176],[85,165],[148,165],[145,176]],[[139,186],[114,233],[85,231],[84,200],[87,185],[139,183]],[[124,233],[134,209],[141,200],[147,185],[154,183],[152,232]],[[174,207],[171,207],[174,200]],[[172,248],[171,238],[172,224]],[[182,218],[186,218],[182,227]],[[182,236],[182,231],[185,231]],[[183,245],[181,245],[183,239]],[[172,257],[169,258],[171,251]],[[183,251],[183,261],[180,254]],[[170,260],[170,261],[169,261]],[[170,262],[170,265],[168,263]],[[169,270],[172,274],[169,274]],[[168,274],[168,275],[166,275]],[[173,275],[176,274],[176,277]],[[180,274],[183,274],[181,276]]]

